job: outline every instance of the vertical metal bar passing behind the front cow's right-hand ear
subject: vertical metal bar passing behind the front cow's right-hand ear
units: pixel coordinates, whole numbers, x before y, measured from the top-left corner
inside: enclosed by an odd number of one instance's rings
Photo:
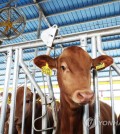
[[[92,57],[97,57],[97,45],[96,45],[96,38],[92,37]],[[100,102],[99,102],[99,92],[98,92],[98,76],[97,71],[93,70],[93,89],[95,92],[95,134],[101,134],[101,127],[100,127]]]

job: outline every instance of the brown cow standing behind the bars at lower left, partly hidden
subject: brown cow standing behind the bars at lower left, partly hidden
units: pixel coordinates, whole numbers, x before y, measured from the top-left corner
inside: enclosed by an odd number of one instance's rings
[[[18,131],[18,134],[21,134],[21,126],[22,126],[22,111],[23,111],[23,96],[24,96],[24,87],[19,87],[17,89],[16,94],[16,110],[15,110],[15,124]],[[29,88],[26,91],[26,111],[25,111],[25,126],[24,126],[24,134],[31,134],[32,128],[32,100],[33,94]],[[36,101],[35,108],[35,119],[41,117],[42,105],[40,101]],[[53,118],[51,110],[48,109],[49,114],[49,123],[48,127],[53,127]],[[41,119],[35,122],[35,128],[41,130]],[[52,134],[52,130],[48,131],[49,134]],[[34,131],[34,134],[41,134],[41,132]]]

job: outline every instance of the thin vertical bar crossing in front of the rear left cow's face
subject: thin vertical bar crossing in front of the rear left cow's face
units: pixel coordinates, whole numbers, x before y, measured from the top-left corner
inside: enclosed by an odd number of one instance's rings
[[[25,84],[24,84],[24,97],[23,97],[23,112],[22,112],[22,131],[21,134],[24,134],[25,126],[25,111],[26,111],[26,89],[27,89],[27,75],[25,74]]]

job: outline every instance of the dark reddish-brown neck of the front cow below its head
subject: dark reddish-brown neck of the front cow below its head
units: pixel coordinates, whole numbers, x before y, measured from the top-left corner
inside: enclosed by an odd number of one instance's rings
[[[60,134],[82,134],[83,106],[74,107],[68,97],[61,95]]]

